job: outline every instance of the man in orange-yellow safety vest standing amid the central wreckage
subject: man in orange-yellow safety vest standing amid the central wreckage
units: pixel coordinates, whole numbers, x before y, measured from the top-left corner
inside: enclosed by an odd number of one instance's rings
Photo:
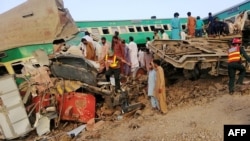
[[[112,49],[109,49],[108,54],[105,56],[105,66],[106,66],[106,80],[110,81],[110,76],[114,75],[115,77],[115,92],[121,91],[120,86],[120,62],[124,62],[128,65],[130,63],[126,62],[124,59],[120,58],[119,56],[116,56],[114,54],[114,51]]]

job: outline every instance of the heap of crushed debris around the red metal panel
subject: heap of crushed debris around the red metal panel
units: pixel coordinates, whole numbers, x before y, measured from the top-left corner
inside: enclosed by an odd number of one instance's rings
[[[120,120],[144,108],[147,77],[143,69],[131,77],[121,76],[122,91],[116,93],[114,84],[102,81],[104,75],[84,58],[57,56],[49,64],[43,52],[35,54],[40,63],[25,62],[22,74],[16,76],[24,80],[20,96],[38,136],[58,128],[61,121],[84,123],[88,131],[96,131],[104,121]],[[69,73],[73,67],[77,73]],[[73,75],[82,81],[69,79]]]

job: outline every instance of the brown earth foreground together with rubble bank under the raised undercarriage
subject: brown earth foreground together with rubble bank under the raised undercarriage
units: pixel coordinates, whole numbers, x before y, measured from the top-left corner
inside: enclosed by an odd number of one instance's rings
[[[59,129],[37,137],[36,132],[21,140],[42,141],[222,141],[225,124],[250,124],[250,91],[238,87],[228,94],[226,76],[196,81],[179,80],[167,88],[168,113],[146,105],[131,116],[104,121],[94,131],[82,131],[69,138],[66,132],[80,123],[61,123]],[[98,123],[98,122],[97,122]]]

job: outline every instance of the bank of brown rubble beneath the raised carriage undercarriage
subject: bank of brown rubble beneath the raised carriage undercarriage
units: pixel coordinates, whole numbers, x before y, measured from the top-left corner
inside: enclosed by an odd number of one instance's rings
[[[202,104],[210,102],[216,96],[224,93],[227,93],[227,80],[225,77],[217,77],[213,78],[213,80],[185,80],[167,89],[168,108],[172,109],[188,103]]]

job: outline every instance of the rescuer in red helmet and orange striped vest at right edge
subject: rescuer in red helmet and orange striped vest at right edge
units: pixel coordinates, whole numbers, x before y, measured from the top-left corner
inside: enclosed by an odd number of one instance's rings
[[[229,75],[229,94],[234,93],[234,81],[235,73],[237,70],[240,71],[239,78],[236,84],[242,85],[243,79],[246,74],[245,67],[241,64],[241,55],[250,62],[250,57],[245,52],[244,48],[240,46],[241,39],[234,38],[232,40],[232,46],[228,49],[228,75]]]

